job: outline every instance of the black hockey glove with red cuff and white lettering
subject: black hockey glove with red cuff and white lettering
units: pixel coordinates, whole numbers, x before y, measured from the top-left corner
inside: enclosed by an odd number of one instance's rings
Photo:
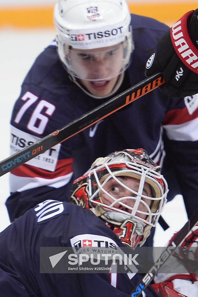
[[[198,93],[198,9],[187,12],[158,41],[145,74],[163,72],[162,92],[172,97]]]

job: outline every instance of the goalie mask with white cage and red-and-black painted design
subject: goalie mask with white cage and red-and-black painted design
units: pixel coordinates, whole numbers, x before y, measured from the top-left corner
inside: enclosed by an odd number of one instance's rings
[[[123,244],[141,246],[161,215],[167,183],[144,149],[98,158],[73,182],[72,201],[106,222]]]

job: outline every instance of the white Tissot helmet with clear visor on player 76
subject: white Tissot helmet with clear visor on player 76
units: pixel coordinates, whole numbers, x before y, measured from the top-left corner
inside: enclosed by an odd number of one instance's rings
[[[98,81],[123,73],[133,51],[130,22],[131,15],[125,0],[59,0],[54,8],[57,49],[70,76],[74,80]],[[120,66],[116,67],[119,64],[116,53],[120,53],[121,47],[123,55]],[[72,59],[76,51],[78,61]],[[106,59],[108,71],[98,77],[93,73],[98,67],[95,61],[101,56]],[[90,65],[92,74],[86,70],[87,65]]]

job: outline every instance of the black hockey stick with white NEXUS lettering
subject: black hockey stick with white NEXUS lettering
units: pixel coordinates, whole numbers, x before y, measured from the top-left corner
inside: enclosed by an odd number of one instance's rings
[[[153,267],[148,273],[144,275],[142,280],[139,282],[135,290],[131,292],[130,297],[138,297],[142,294],[142,291],[150,284],[159,269],[164,265],[166,260],[174,253],[175,249],[182,243],[186,238],[188,232],[198,223],[198,209],[186,222],[186,224],[176,233],[175,237],[169,242],[168,247],[164,250],[158,260],[154,263]]]

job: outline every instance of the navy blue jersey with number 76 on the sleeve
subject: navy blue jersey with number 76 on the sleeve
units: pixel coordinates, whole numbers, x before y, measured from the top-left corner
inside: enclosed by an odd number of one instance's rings
[[[120,89],[145,79],[147,59],[168,27],[132,15],[135,50]],[[15,153],[96,108],[94,99],[71,82],[52,42],[27,74],[11,118],[10,151]],[[198,207],[198,95],[168,98],[159,89],[145,94],[89,129],[58,144],[10,173],[6,205],[11,220],[46,199],[67,201],[75,178],[98,157],[123,149],[144,148],[162,165],[169,197],[182,193],[189,215]],[[177,190],[179,184],[180,189]],[[168,197],[168,198],[169,198]]]

